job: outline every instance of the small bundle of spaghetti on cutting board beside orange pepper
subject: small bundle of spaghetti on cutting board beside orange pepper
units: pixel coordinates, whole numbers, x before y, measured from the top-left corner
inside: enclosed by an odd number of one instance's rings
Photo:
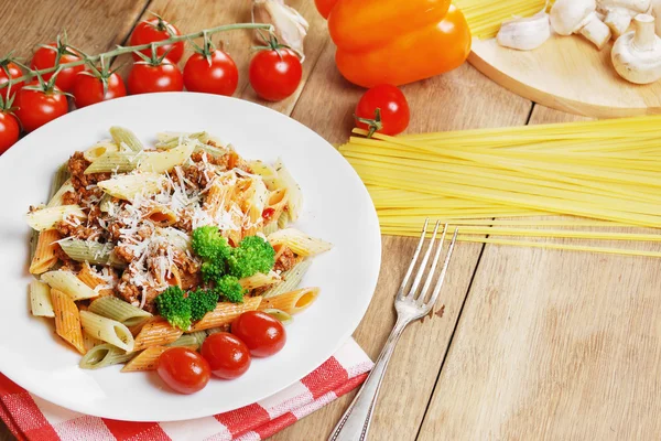
[[[540,12],[545,0],[454,0],[464,12],[470,32],[480,40],[492,39],[500,23],[514,17],[530,17]]]

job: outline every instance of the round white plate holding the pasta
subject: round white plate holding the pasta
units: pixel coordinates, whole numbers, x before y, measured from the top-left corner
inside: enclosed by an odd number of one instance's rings
[[[153,373],[119,366],[78,368],[52,321],[30,315],[29,206],[45,202],[56,166],[74,151],[130,128],[143,140],[159,131],[207,130],[249,159],[281,157],[305,197],[297,226],[332,241],[315,258],[305,286],[317,301],[288,326],[285,347],[253,359],[241,378],[212,379],[192,396],[167,390]],[[79,412],[131,421],[210,416],[266,398],[325,362],[351,335],[372,297],[381,258],[379,224],[358,175],[319,136],[284,115],[248,101],[203,94],[152,94],[76,110],[29,135],[0,157],[0,372],[32,394]]]

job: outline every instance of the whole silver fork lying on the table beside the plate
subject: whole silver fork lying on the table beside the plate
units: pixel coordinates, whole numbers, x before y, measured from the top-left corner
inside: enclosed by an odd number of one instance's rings
[[[436,227],[434,228],[432,239],[430,240],[426,252],[420,262],[418,272],[413,279],[413,284],[411,284],[411,288],[407,290],[409,280],[411,279],[411,275],[413,273],[413,269],[415,268],[415,263],[418,263],[418,258],[420,257],[420,252],[422,251],[424,245],[427,225],[429,218],[424,222],[422,235],[420,236],[420,241],[418,243],[418,247],[413,254],[413,259],[411,260],[411,265],[407,270],[404,280],[402,280],[402,284],[400,286],[394,300],[397,323],[394,324],[394,327],[392,329],[392,332],[386,342],[386,346],[383,346],[381,354],[379,354],[379,358],[377,358],[377,363],[375,364],[372,372],[367,377],[367,380],[356,395],[356,398],[354,398],[354,401],[351,401],[351,405],[347,411],[342,416],[342,419],[337,426],[335,426],[335,429],[328,438],[328,441],[364,441],[367,439],[372,412],[377,402],[377,397],[379,396],[379,389],[381,388],[381,381],[383,380],[386,369],[388,368],[388,363],[390,362],[390,357],[392,356],[392,352],[394,351],[394,346],[397,345],[399,337],[402,335],[402,332],[409,325],[409,323],[420,320],[429,314],[434,308],[436,300],[438,300],[438,294],[441,293],[441,288],[443,287],[443,280],[445,280],[445,273],[447,272],[447,267],[449,266],[452,251],[454,250],[454,246],[457,240],[458,229],[455,229],[452,241],[449,243],[447,256],[443,262],[443,268],[441,270],[441,275],[438,276],[438,280],[436,281],[436,286],[434,287],[434,291],[432,292],[430,300],[425,302],[427,297],[426,293],[432,284],[432,280],[434,279],[434,275],[436,272],[436,266],[441,259],[441,251],[443,250],[443,243],[445,241],[445,234],[447,233],[447,224],[445,224],[443,227],[443,235],[441,236],[441,240],[436,247],[434,260],[432,261],[432,267],[427,273],[422,290],[420,290],[420,293],[418,293],[418,288],[420,287],[420,282],[424,276],[430,256],[432,255],[432,249],[434,248],[436,233],[438,233],[438,222],[436,222]]]

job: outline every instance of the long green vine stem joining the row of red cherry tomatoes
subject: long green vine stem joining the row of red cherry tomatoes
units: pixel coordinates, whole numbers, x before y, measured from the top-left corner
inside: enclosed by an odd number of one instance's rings
[[[64,69],[67,67],[80,66],[80,65],[89,63],[89,62],[96,62],[96,61],[100,60],[101,57],[110,58],[110,57],[115,57],[115,56],[122,55],[122,54],[128,54],[128,53],[136,52],[136,51],[143,51],[145,49],[151,49],[152,45],[159,47],[159,46],[164,46],[166,44],[178,43],[178,42],[186,41],[189,39],[198,39],[201,36],[204,36],[205,34],[212,35],[212,34],[215,34],[218,32],[235,31],[238,29],[263,29],[263,30],[268,30],[269,32],[273,31],[273,26],[271,24],[235,23],[235,24],[224,24],[220,26],[209,28],[209,29],[202,30],[199,32],[193,32],[191,34],[175,35],[175,36],[171,36],[167,40],[162,40],[159,42],[153,42],[153,43],[148,43],[148,44],[139,44],[137,46],[118,46],[117,49],[115,49],[112,51],[104,52],[102,54],[98,54],[98,55],[89,55],[87,57],[82,57],[80,60],[76,60],[75,62],[64,63],[64,64],[55,65],[53,67],[39,69],[39,71],[28,69],[26,75],[11,78],[9,82],[1,84],[0,89],[3,87],[8,87],[9,85],[30,79],[37,73],[40,75],[50,74],[51,72],[55,72],[59,67]]]

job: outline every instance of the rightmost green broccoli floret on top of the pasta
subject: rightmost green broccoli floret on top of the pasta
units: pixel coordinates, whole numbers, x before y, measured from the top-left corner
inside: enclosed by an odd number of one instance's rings
[[[239,246],[231,249],[227,258],[229,275],[239,279],[257,272],[269,272],[274,263],[273,247],[259,236],[243,237]]]

